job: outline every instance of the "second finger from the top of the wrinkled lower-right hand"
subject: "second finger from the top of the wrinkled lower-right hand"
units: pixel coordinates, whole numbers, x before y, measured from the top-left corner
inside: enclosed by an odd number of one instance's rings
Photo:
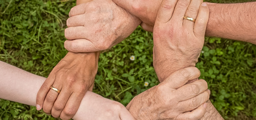
[[[189,100],[206,91],[208,88],[206,80],[200,79],[193,83],[186,84],[174,91],[178,101]]]

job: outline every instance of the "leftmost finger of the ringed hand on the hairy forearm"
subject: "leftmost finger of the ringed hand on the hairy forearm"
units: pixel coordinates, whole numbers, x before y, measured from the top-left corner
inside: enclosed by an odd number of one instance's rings
[[[177,0],[163,0],[156,16],[156,23],[166,23],[171,17]]]

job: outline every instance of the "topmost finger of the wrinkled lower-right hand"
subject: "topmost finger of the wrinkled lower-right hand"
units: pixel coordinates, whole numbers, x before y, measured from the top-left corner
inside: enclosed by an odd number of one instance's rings
[[[177,89],[185,85],[187,81],[200,77],[200,70],[196,67],[187,67],[175,71],[162,84],[168,84],[169,88]]]

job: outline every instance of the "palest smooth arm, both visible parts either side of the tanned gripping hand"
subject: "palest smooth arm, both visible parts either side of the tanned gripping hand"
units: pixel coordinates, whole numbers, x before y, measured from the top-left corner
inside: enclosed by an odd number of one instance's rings
[[[37,91],[46,78],[0,61],[0,97],[35,106]],[[111,107],[110,107],[111,106]],[[73,119],[133,119],[120,103],[87,91]]]

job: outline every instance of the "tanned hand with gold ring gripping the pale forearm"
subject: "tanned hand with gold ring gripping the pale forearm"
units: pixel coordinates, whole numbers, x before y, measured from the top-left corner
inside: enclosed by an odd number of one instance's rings
[[[97,74],[97,53],[72,53],[59,61],[37,94],[37,110],[61,119],[75,115],[85,93],[92,90]],[[61,91],[59,94],[50,86]]]

